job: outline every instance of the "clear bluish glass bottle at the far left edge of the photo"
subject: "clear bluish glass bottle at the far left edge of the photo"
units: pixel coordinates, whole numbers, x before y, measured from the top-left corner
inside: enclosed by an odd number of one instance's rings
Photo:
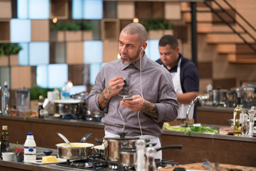
[[[8,116],[10,112],[10,93],[8,91],[8,84],[4,82],[4,89],[2,93],[2,113],[5,116]]]

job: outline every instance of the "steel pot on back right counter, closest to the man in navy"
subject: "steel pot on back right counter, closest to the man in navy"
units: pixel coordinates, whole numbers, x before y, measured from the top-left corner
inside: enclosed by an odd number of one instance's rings
[[[226,104],[229,98],[229,91],[226,89],[216,89],[212,91],[214,105]]]

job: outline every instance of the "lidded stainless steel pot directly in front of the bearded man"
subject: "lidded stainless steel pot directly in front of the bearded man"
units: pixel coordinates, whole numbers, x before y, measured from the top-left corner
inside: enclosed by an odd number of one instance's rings
[[[109,161],[119,161],[119,149],[135,149],[135,142],[139,137],[125,137],[125,132],[120,132],[120,137],[104,138],[104,141],[95,139],[98,143],[104,143],[105,158]]]

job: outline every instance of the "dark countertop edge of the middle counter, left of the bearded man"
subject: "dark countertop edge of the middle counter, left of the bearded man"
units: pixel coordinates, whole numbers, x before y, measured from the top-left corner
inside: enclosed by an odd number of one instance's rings
[[[1,115],[0,119],[18,120],[18,121],[24,121],[24,122],[38,122],[38,123],[47,123],[47,124],[58,124],[58,125],[72,125],[72,126],[82,126],[82,127],[91,127],[91,128],[104,128],[104,125],[101,122],[74,120],[74,119],[67,120],[67,119],[58,119],[54,117],[26,118],[26,120],[24,120],[24,117]]]

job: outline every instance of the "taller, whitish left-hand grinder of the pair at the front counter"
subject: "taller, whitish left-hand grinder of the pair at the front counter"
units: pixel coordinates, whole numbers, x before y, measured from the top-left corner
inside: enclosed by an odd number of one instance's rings
[[[136,171],[145,171],[145,147],[146,147],[146,141],[143,139],[138,139],[135,142],[136,151],[137,151],[137,161],[135,165]]]

